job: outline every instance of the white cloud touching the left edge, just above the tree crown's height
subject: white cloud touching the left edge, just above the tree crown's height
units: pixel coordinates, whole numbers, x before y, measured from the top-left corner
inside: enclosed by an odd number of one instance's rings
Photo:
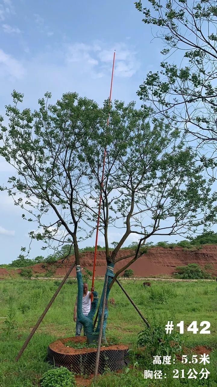
[[[17,59],[0,49],[0,76],[5,75],[20,79],[24,75],[24,67]]]

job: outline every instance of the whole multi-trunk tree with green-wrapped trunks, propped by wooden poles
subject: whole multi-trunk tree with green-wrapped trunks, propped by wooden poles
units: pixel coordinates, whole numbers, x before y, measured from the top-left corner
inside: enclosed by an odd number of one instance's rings
[[[125,106],[115,101],[109,106],[105,101],[100,108],[76,93],[63,94],[56,104],[48,104],[51,95],[46,93],[46,100],[39,100],[39,110],[20,111],[22,94],[14,91],[12,96],[14,106],[6,107],[8,127],[1,118],[0,154],[14,166],[16,174],[1,189],[7,190],[15,204],[25,210],[23,219],[36,221],[38,230],[31,231],[31,238],[42,240],[44,248],[51,243],[70,244],[73,248],[78,310],[83,289],[79,243],[95,230],[99,192],[102,197],[99,231],[104,236],[107,260],[107,299],[115,278],[146,251],[144,244],[149,237],[191,235],[200,226],[206,228],[215,221],[212,204],[215,194],[210,194],[212,179],[203,178],[203,164],[196,161],[178,130],[163,120],[151,119],[144,110],[136,110],[133,102]],[[106,126],[108,113],[109,128]],[[108,248],[110,226],[122,231],[112,251]],[[138,237],[136,251],[117,257],[132,234]],[[115,263],[126,257],[131,260],[113,274]],[[105,288],[104,284],[103,292]],[[103,293],[96,332],[102,301]],[[97,298],[93,302],[92,314]],[[84,319],[86,332],[92,332],[93,315],[89,317]],[[107,307],[104,339],[106,317]]]

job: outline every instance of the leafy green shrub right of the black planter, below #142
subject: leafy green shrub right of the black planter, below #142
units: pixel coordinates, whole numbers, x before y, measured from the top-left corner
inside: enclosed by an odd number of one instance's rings
[[[181,344],[180,334],[175,331],[166,334],[163,326],[145,327],[144,330],[139,332],[137,340],[137,347],[146,346],[146,350],[151,356],[172,356],[180,353]]]

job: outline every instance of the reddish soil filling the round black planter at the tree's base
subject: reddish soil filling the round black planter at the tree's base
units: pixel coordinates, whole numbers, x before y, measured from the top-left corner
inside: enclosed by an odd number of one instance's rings
[[[84,336],[80,337],[67,337],[66,339],[59,339],[57,341],[52,342],[49,344],[49,347],[58,353],[63,353],[67,355],[75,355],[75,354],[81,354],[81,353],[88,353],[88,352],[97,352],[97,348],[71,348],[68,346],[65,346],[66,342],[72,341],[72,342],[84,342],[86,341],[86,338]],[[108,349],[128,349],[129,346],[127,345],[110,345],[107,347],[101,347],[100,351],[108,351]]]

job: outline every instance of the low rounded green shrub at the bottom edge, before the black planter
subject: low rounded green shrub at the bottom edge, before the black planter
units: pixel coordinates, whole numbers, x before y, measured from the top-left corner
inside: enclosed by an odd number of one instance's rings
[[[41,387],[73,387],[74,375],[65,367],[53,368],[40,379]]]

